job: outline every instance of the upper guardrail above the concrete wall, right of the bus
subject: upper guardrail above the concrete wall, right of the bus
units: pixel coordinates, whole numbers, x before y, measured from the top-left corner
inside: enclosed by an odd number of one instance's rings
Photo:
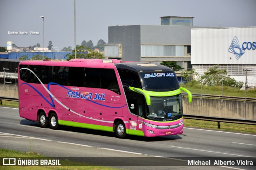
[[[182,93],[182,96],[188,96],[186,93]],[[236,96],[218,96],[211,94],[192,94],[193,97],[198,98],[214,98],[214,99],[226,99],[226,100],[238,100],[238,101],[247,101],[247,102],[256,102],[256,98],[244,98],[244,97],[236,97]]]

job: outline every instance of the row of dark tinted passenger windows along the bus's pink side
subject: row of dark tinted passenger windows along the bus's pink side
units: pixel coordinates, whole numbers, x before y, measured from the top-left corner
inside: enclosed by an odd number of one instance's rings
[[[28,69],[21,68],[28,68],[36,75]],[[43,84],[55,82],[62,86],[104,88],[121,94],[116,73],[113,69],[20,65],[21,80],[40,83],[37,77]]]

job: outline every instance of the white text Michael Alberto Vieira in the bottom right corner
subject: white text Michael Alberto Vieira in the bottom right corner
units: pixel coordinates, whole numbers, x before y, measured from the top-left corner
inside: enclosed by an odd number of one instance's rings
[[[212,162],[211,162],[212,161]],[[213,163],[213,164],[211,164]],[[188,165],[233,165],[233,166],[243,166],[243,165],[253,165],[253,161],[248,160],[188,160]]]

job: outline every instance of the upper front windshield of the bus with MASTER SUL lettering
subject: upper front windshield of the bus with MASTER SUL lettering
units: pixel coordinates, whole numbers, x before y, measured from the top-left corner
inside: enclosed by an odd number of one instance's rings
[[[140,72],[142,88],[151,91],[172,91],[180,88],[173,70],[162,72]]]

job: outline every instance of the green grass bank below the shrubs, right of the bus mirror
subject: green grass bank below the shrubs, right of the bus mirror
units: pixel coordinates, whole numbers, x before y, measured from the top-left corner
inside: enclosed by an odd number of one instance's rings
[[[188,82],[186,84],[180,84],[180,86],[188,89],[191,93],[194,93],[194,94],[212,94],[212,95],[222,96],[222,86],[204,86],[203,85],[202,92],[201,92],[200,84],[193,84]],[[245,92],[244,90],[240,90],[238,88],[224,86],[223,96],[244,97]],[[246,98],[256,98],[256,88],[246,90]]]

